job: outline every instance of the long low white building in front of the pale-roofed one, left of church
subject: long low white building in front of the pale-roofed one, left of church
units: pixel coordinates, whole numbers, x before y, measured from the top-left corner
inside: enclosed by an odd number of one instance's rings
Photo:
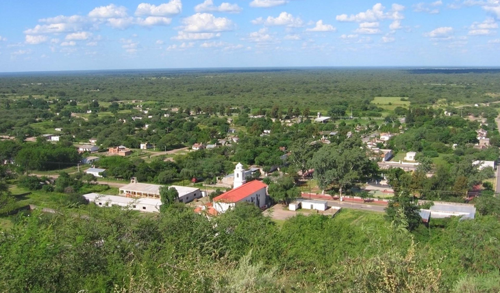
[[[97,206],[121,206],[130,210],[140,210],[141,212],[160,212],[162,201],[153,198],[134,199],[130,197],[116,195],[101,195],[88,193],[84,195],[87,201],[94,202]]]

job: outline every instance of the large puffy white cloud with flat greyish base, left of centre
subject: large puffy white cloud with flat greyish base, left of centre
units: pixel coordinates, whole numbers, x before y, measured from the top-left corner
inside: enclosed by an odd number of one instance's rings
[[[182,31],[189,33],[208,33],[231,31],[234,23],[229,18],[215,17],[210,13],[197,13],[182,20]]]

